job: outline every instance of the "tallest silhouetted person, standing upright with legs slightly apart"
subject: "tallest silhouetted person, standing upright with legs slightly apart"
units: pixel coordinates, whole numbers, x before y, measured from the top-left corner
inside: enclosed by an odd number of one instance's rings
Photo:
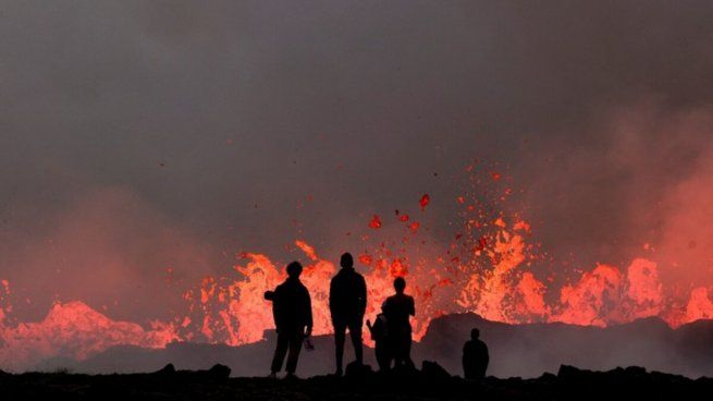
[[[354,345],[354,355],[358,364],[364,363],[361,345],[361,326],[367,308],[367,283],[364,277],[354,270],[354,258],[345,253],[340,260],[342,269],[332,278],[329,289],[329,308],[334,326],[334,344],[336,349],[336,375],[342,376],[344,340],[346,329]]]

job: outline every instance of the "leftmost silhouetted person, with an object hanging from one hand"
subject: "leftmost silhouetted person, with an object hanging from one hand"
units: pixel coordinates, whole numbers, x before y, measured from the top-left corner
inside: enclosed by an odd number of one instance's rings
[[[282,362],[285,354],[287,365],[285,370],[287,377],[294,376],[297,368],[297,360],[305,337],[312,331],[312,307],[309,291],[299,281],[302,265],[293,262],[287,265],[287,279],[274,290],[265,294],[267,300],[272,301],[272,315],[278,331],[278,347],[272,357],[271,377],[275,377],[282,369]]]

